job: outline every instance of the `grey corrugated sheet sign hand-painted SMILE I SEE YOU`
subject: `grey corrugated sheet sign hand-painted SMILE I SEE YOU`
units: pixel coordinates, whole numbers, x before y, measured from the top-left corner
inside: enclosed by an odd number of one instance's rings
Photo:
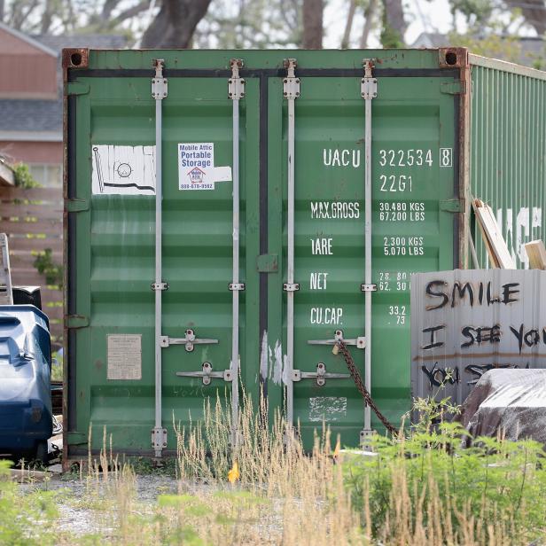
[[[464,402],[492,368],[546,368],[546,271],[411,276],[411,390]]]

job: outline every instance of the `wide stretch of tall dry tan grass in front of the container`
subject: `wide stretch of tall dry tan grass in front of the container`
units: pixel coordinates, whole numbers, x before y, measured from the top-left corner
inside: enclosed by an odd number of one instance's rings
[[[464,496],[467,489],[451,482],[447,467],[436,467],[434,449],[419,474],[407,463],[404,441],[384,442],[390,451],[376,457],[382,472],[376,475],[374,462],[362,456],[343,454],[344,461],[335,461],[327,430],[306,454],[297,434],[286,436],[282,418],[269,430],[248,398],[242,407],[233,448],[230,409],[220,399],[207,402],[202,422],[189,429],[175,425],[177,494],[160,495],[157,505],[137,501],[135,473],[119,464],[110,446],[97,461],[90,457],[81,477],[86,503],[97,510],[100,504],[111,531],[58,542],[503,546],[529,544],[536,536],[536,529],[528,533],[520,525],[525,500],[496,506],[495,498],[483,495],[477,509],[475,499]],[[105,435],[105,446],[107,441]],[[229,483],[235,462],[240,475]]]

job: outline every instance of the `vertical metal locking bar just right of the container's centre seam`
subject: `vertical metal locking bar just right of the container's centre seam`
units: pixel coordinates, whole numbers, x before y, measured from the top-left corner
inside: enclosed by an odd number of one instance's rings
[[[288,188],[287,188],[287,260],[286,260],[286,422],[293,424],[293,355],[294,355],[294,101],[300,95],[300,80],[295,77],[296,60],[285,61],[287,77],[284,95],[288,101]]]

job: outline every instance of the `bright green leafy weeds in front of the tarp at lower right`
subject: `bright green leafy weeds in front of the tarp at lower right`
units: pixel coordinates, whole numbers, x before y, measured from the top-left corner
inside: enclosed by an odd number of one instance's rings
[[[541,444],[472,440],[462,425],[443,420],[456,411],[448,399],[418,400],[415,409],[423,419],[409,435],[400,440],[377,435],[372,440],[377,456],[348,456],[343,463],[354,506],[367,511],[373,536],[385,538],[389,520],[401,519],[393,513],[394,495],[402,499],[409,527],[433,528],[440,518],[457,541],[463,541],[469,521],[478,533],[485,533],[487,522],[499,522],[511,529],[513,544],[544,536],[546,453]]]

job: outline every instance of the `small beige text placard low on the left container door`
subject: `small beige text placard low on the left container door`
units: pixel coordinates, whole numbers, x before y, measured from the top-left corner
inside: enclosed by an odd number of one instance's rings
[[[142,379],[142,334],[108,334],[108,379]]]

